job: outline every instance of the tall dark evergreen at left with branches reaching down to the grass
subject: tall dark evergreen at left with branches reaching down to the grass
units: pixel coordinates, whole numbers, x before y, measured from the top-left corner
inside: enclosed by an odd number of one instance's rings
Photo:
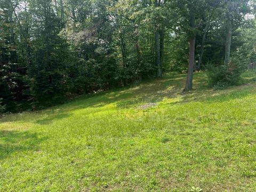
[[[63,100],[67,88],[68,46],[58,34],[61,22],[51,0],[30,2],[33,13],[34,51],[29,76],[36,103],[51,105]]]

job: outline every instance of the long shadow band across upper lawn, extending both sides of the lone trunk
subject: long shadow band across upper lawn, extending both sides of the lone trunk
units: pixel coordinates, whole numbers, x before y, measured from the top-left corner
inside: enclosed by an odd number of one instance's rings
[[[142,103],[161,102],[164,99],[174,99],[177,97],[179,97],[179,101],[172,102],[171,105],[191,101],[214,102],[218,100],[224,102],[236,99],[237,97],[245,97],[247,94],[250,94],[250,91],[246,92],[242,90],[243,86],[237,86],[235,88],[231,87],[227,90],[213,91],[207,86],[205,73],[195,73],[193,81],[194,90],[184,94],[182,91],[185,87],[186,76],[186,74],[173,75],[162,79],[142,82],[138,85],[131,86],[130,89],[124,87],[93,95],[85,95],[64,105],[33,113],[33,115],[37,114],[37,117],[35,118],[36,120],[27,120],[41,125],[48,125],[55,120],[68,118],[72,115],[73,110],[87,109],[88,114],[93,114],[102,111],[103,109],[101,107],[112,103],[117,108],[124,109],[134,108],[140,104],[142,105]],[[237,92],[240,91],[241,93],[237,94]],[[231,94],[231,96],[223,97],[223,95],[228,94]],[[24,121],[22,117],[20,117],[20,119],[21,121]],[[0,121],[8,122],[10,120],[11,118],[9,117],[6,119],[2,118]],[[17,118],[14,121],[17,121]]]

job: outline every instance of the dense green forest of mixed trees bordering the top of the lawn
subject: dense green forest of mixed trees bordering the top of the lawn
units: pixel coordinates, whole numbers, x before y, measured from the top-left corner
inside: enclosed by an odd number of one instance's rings
[[[35,110],[78,94],[166,73],[207,70],[239,82],[256,66],[250,0],[1,0],[0,112]]]

